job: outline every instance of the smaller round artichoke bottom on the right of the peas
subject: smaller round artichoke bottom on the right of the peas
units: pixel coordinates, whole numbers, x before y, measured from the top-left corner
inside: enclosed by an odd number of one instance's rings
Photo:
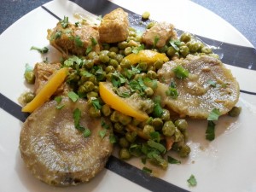
[[[178,79],[174,72],[177,67],[188,70],[189,77]],[[188,55],[186,59],[168,61],[158,75],[162,83],[156,94],[180,116],[207,119],[213,108],[224,114],[238,102],[239,84],[230,70],[211,56]],[[176,85],[177,98],[166,96],[171,82]]]

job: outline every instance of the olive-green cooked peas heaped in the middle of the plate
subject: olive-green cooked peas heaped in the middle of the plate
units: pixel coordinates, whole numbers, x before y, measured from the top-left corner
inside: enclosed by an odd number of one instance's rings
[[[154,26],[150,23],[148,28]],[[177,151],[181,157],[187,157],[190,153],[190,148],[186,144],[188,139],[188,123],[185,119],[171,119],[169,110],[163,107],[163,113],[160,117],[152,115],[154,101],[151,98],[154,96],[154,87],[147,84],[144,90],[147,102],[142,105],[142,109],[151,116],[150,120],[140,122],[137,119],[131,118],[123,113],[113,110],[104,103],[99,96],[99,82],[111,82],[113,74],[118,72],[125,79],[158,79],[157,71],[162,67],[162,61],[156,61],[153,65],[148,66],[147,63],[137,63],[139,73],[129,73],[132,67],[128,60],[125,60],[126,55],[130,55],[143,45],[142,37],[134,28],[129,28],[129,36],[118,44],[102,44],[100,52],[91,51],[88,55],[80,57],[81,63],[73,65],[73,71],[67,77],[67,83],[78,93],[79,97],[87,99],[89,103],[89,114],[92,117],[99,118],[101,116],[110,119],[117,143],[119,144],[119,157],[127,160],[131,156],[137,156],[131,152],[131,147],[134,144],[142,145],[144,140],[139,137],[139,131],[144,137],[150,137],[152,132],[159,132],[162,138],[172,137],[172,149]],[[165,53],[170,60],[184,58],[189,54],[208,54],[212,55],[212,49],[208,48],[200,41],[195,40],[189,33],[183,33],[180,38],[176,39],[176,46],[166,44],[162,48],[146,48],[154,49],[154,51]],[[33,74],[25,73],[25,79],[28,83],[32,82]],[[122,86],[120,89],[124,89]],[[27,102],[32,100],[31,94],[27,94]],[[93,102],[97,100],[101,108],[95,108]],[[131,131],[128,125],[137,128],[137,131]],[[160,143],[165,144],[165,139],[161,139]]]

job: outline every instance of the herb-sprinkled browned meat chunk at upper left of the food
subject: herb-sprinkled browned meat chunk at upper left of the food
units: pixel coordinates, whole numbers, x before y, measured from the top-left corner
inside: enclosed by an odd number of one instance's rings
[[[48,30],[49,43],[64,55],[85,55],[86,49],[99,51],[99,32],[93,26],[75,26],[68,24],[66,28],[59,22],[53,30]]]

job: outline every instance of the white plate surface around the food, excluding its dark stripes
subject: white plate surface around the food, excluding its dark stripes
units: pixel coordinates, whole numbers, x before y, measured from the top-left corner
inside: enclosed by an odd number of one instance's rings
[[[113,2],[139,15],[148,10],[151,19],[166,20],[184,31],[229,44],[253,47],[229,23],[190,1],[172,0],[167,5],[164,0]],[[56,0],[44,7],[60,18],[67,15],[70,20],[73,20],[76,12],[86,14],[77,4],[68,1]],[[38,52],[30,50],[31,46],[49,45],[46,31],[53,28],[57,21],[53,15],[39,7],[15,22],[0,36],[0,92],[11,101],[18,103],[20,93],[28,89],[23,80],[25,64],[33,65],[44,60]],[[55,49],[50,51],[52,53]],[[256,93],[255,71],[230,65],[227,67],[238,79],[241,90]],[[160,179],[198,192],[256,191],[256,130],[253,127],[256,125],[256,96],[241,93],[238,104],[242,107],[241,115],[237,119],[220,118],[216,127],[217,136],[212,142],[205,139],[206,121],[189,122],[189,145],[192,149],[189,158],[182,160],[181,165],[170,165],[166,172],[160,171]],[[0,191],[147,191],[107,169],[90,183],[72,188],[53,188],[39,182],[27,172],[20,159],[18,145],[21,125],[20,120],[0,109]],[[143,167],[140,160],[133,159],[129,163]],[[198,182],[193,188],[187,183],[191,174],[195,175]]]

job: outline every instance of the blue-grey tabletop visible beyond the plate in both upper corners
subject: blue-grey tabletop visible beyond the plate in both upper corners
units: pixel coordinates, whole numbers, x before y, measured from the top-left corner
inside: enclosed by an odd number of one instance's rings
[[[230,22],[256,47],[255,0],[192,0]],[[0,34],[16,20],[49,0],[1,0]],[[203,20],[204,18],[202,18]]]

